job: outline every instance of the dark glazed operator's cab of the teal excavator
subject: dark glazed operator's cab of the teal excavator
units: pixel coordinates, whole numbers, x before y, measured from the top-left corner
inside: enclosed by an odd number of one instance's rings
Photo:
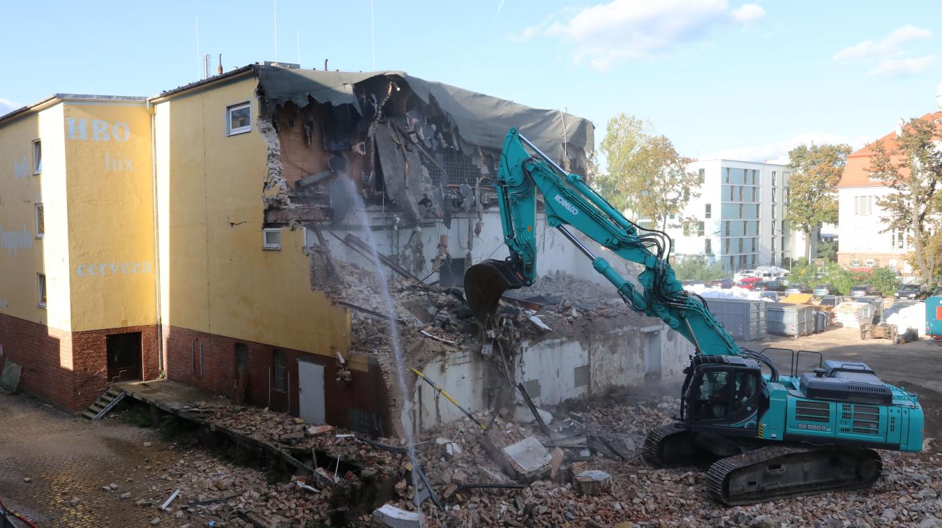
[[[691,368],[685,410],[692,424],[755,429],[762,396],[762,373],[755,360],[698,356]]]

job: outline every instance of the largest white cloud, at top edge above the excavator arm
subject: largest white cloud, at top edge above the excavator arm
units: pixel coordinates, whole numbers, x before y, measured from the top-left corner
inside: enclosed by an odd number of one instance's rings
[[[577,63],[606,70],[616,62],[663,55],[701,40],[718,25],[751,23],[764,15],[755,4],[731,10],[726,0],[611,0],[567,17],[551,15],[525,28],[518,40],[561,40]]]

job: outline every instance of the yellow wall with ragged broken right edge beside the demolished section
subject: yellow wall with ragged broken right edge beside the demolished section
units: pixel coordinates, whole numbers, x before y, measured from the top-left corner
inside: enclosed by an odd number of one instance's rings
[[[310,288],[300,230],[262,249],[268,148],[254,77],[155,104],[163,323],[318,354],[349,349],[349,315]],[[227,136],[226,107],[252,103]]]

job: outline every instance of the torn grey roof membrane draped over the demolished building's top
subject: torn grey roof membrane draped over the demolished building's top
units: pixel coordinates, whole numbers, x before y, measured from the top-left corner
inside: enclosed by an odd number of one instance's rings
[[[562,160],[573,149],[582,156],[593,151],[594,125],[560,110],[541,110],[490,95],[426,81],[406,72],[324,72],[274,66],[258,68],[258,92],[269,111],[287,103],[303,108],[311,100],[320,104],[350,104],[361,115],[364,108],[354,86],[374,77],[396,77],[426,104],[435,104],[447,116],[463,141],[500,151],[512,127],[533,141],[543,152]]]

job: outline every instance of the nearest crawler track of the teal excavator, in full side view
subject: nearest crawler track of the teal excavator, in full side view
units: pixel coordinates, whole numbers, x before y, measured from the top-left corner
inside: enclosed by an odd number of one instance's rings
[[[883,470],[880,455],[856,447],[769,446],[721,458],[707,471],[707,489],[728,505],[867,488]]]

